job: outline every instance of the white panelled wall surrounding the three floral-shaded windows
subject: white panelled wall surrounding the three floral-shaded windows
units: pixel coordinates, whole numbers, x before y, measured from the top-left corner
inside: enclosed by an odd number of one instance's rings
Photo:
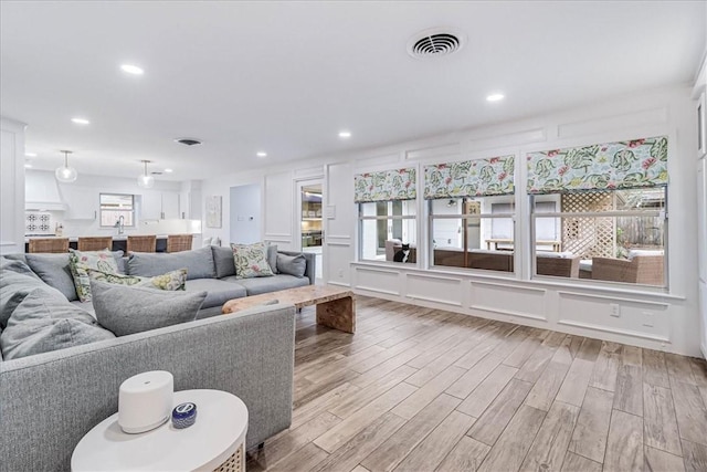
[[[234,185],[264,182],[264,239],[292,247],[294,222],[289,201],[295,181],[302,169],[324,165],[325,208],[328,207],[330,214],[335,213],[325,220],[325,283],[421,306],[696,356],[700,336],[695,329],[699,325],[695,283],[698,272],[695,123],[690,88],[671,87],[514,123],[327,156],[277,169],[264,168],[247,176],[219,177],[204,181],[203,195],[228,195]],[[418,228],[418,264],[401,268],[356,261],[357,208],[352,196],[357,172],[398,166],[421,168],[425,164],[507,154],[515,154],[520,162],[531,150],[656,135],[669,136],[667,270],[671,289],[667,293],[588,284],[580,280],[530,280],[531,264],[525,255],[530,247],[529,220],[525,218],[516,222],[518,248],[525,250],[516,251],[515,274],[426,270],[426,222]],[[516,176],[519,216],[528,214],[525,175],[525,166],[519,165]],[[422,195],[422,182],[418,193]],[[225,209],[224,214],[228,214]],[[420,222],[426,221],[426,204],[422,199],[418,201],[418,214]],[[609,315],[610,303],[620,305],[619,318]]]

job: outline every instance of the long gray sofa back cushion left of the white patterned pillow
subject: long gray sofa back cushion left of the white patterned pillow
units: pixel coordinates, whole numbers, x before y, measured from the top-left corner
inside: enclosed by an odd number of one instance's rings
[[[181,252],[134,252],[128,258],[128,274],[152,277],[187,268],[187,280],[213,279],[215,269],[211,248]]]

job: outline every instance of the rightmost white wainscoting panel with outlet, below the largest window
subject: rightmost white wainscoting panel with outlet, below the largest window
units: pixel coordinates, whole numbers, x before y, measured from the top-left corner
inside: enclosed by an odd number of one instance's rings
[[[667,303],[576,292],[558,292],[558,295],[560,325],[671,342]]]

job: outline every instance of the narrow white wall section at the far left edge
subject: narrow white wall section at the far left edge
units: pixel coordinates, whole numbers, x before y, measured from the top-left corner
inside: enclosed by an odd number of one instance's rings
[[[0,254],[24,252],[24,127],[0,118]]]

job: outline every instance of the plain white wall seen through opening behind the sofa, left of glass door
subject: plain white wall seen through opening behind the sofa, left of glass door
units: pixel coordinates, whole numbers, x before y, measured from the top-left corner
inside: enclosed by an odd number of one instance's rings
[[[231,187],[231,242],[251,244],[261,241],[261,186]]]

